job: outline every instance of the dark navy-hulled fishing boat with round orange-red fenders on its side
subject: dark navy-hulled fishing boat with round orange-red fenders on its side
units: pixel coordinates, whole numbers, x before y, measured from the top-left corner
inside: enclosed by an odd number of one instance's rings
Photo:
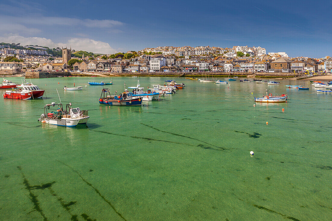
[[[123,92],[120,95],[110,94],[110,89],[105,88],[99,99],[99,104],[112,106],[142,106],[141,97],[133,97],[129,92]]]

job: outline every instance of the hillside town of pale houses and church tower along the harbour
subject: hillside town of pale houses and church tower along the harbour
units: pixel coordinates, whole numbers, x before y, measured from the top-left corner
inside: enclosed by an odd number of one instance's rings
[[[160,46],[126,53],[75,56],[71,48],[62,57],[48,54],[45,47],[28,45],[13,49],[0,45],[0,71],[24,72],[252,72],[252,73],[332,73],[332,58],[289,57],[286,52],[269,52],[260,46]],[[29,48],[29,49],[28,49]],[[33,48],[33,49],[32,49]],[[93,54],[93,53],[92,53]],[[129,55],[129,56],[127,56]],[[8,61],[8,57],[14,58]]]

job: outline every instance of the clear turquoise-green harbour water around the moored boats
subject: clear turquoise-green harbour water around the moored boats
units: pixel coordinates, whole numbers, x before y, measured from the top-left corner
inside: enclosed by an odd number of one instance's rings
[[[76,77],[84,90],[63,91],[73,80],[33,79],[47,99],[1,98],[1,220],[332,219],[332,95],[307,81],[179,79],[187,87],[159,102],[109,107],[98,103],[101,89],[120,92],[137,79],[89,86],[110,79]],[[87,126],[37,121],[45,104],[59,100],[56,88],[63,104],[89,110]],[[265,89],[290,100],[254,107]]]

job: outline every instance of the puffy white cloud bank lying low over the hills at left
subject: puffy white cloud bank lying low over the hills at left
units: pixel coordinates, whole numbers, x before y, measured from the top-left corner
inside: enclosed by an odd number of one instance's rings
[[[90,38],[70,38],[66,43],[55,43],[44,37],[23,37],[19,35],[0,36],[0,42],[21,43],[21,45],[40,45],[53,47],[70,47],[75,50],[84,50],[93,53],[113,54],[118,52],[109,43]]]

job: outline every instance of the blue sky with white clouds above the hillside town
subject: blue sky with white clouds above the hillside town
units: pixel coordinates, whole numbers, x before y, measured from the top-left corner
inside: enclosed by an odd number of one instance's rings
[[[95,53],[261,46],[332,55],[331,1],[0,1],[0,41]]]

